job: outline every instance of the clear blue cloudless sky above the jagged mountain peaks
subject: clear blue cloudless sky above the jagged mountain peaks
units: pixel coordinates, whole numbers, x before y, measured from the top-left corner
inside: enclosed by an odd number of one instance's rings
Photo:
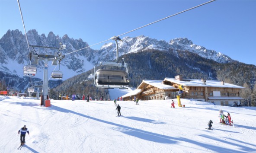
[[[46,36],[49,32],[61,37],[67,34],[89,45],[208,1],[19,0],[26,31],[36,29]],[[24,34],[17,0],[0,0],[0,38],[8,29]],[[122,37],[139,35],[165,41],[188,38],[196,45],[256,65],[256,0],[216,0]]]

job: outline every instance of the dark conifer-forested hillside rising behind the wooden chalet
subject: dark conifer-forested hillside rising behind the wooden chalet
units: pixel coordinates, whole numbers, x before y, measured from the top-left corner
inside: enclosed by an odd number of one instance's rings
[[[241,91],[245,101],[243,105],[255,105],[256,97],[256,66],[243,64],[238,61],[220,64],[216,61],[200,57],[198,54],[189,51],[138,51],[134,54],[125,54],[119,58],[125,58],[128,63],[130,86],[137,87],[142,80],[163,80],[165,77],[175,77],[181,74],[183,78],[224,80],[226,83],[244,86]],[[99,89],[93,85],[93,80],[88,76],[93,70],[72,77],[54,92],[63,94],[87,94],[93,97],[109,97],[106,89]]]

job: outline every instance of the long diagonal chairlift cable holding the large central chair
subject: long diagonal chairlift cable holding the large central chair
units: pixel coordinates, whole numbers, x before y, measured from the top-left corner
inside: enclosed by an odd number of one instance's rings
[[[149,25],[152,25],[152,24],[154,24],[154,23],[156,23],[156,22],[160,22],[160,21],[162,21],[162,20],[164,20],[164,19],[168,19],[168,18],[170,18],[170,17],[173,17],[173,16],[176,16],[176,15],[178,15],[178,14],[187,12],[187,11],[189,11],[189,10],[192,10],[192,9],[195,9],[195,8],[197,8],[197,7],[199,7],[199,6],[203,6],[203,5],[205,5],[205,4],[211,3],[211,2],[213,2],[213,1],[215,1],[215,0],[211,0],[211,1],[208,1],[208,2],[206,2],[206,3],[202,3],[202,4],[198,5],[198,6],[194,6],[194,7],[190,8],[190,9],[181,11],[181,12],[179,12],[179,13],[175,13],[175,14],[173,14],[173,15],[171,15],[171,16],[167,16],[167,17],[165,17],[165,18],[163,18],[163,19],[159,19],[159,20],[157,20],[157,21],[155,21],[155,22],[151,22],[151,23],[149,23],[149,24],[147,24],[147,25],[145,25],[145,26],[141,26],[141,27],[139,27],[139,28],[137,28],[137,29],[134,29],[134,30],[131,30],[131,31],[129,31],[129,32],[125,32],[125,33],[123,33],[123,34],[121,34],[121,35],[118,35],[118,36],[116,36],[116,37],[119,37],[119,36],[128,34],[128,33],[130,33],[130,32],[134,32],[135,30],[144,28],[144,27],[149,26]],[[105,41],[109,41],[109,40],[112,40],[112,38],[109,38],[108,40],[105,40]],[[96,44],[94,44],[94,45],[101,44],[101,43],[103,43],[103,42],[105,42],[105,41],[101,41],[101,42],[96,43]],[[89,48],[89,47],[94,46],[94,45],[90,45],[90,46],[87,46],[87,47],[85,47],[85,48]],[[81,50],[83,50],[83,49],[85,49],[85,48],[81,48],[81,49],[78,49],[78,50],[76,50],[76,51],[72,51],[72,52],[67,53],[67,54],[71,54],[71,53],[74,53],[74,52],[77,52],[77,51],[81,51]],[[65,54],[65,55],[67,55],[67,54]]]

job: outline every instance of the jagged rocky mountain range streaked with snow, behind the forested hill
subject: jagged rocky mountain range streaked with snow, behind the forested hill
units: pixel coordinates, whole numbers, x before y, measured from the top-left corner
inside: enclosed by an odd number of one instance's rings
[[[99,50],[93,50],[89,48],[89,45],[82,39],[69,38],[68,35],[64,35],[62,38],[58,35],[54,35],[53,32],[49,32],[47,36],[45,34],[38,35],[38,32],[34,29],[29,30],[27,36],[29,45],[59,48],[59,43],[61,42],[67,46],[66,49],[61,50],[62,54],[65,55],[65,58],[61,61],[60,66],[48,67],[49,78],[51,71],[60,70],[64,73],[63,80],[66,80],[92,69],[96,63],[101,61],[114,61],[116,58],[115,41],[102,45]],[[227,55],[195,45],[187,38],[175,38],[166,42],[149,38],[144,35],[134,38],[123,37],[122,41],[118,41],[118,47],[119,56],[122,54],[137,53],[138,51],[146,51],[148,49],[156,49],[159,51],[187,50],[219,63],[233,61]],[[85,49],[76,51],[81,48]],[[8,30],[6,34],[0,38],[0,71],[22,78],[23,66],[30,64],[28,57],[29,51],[35,51],[37,54],[54,55],[58,52],[58,49],[28,48],[26,37],[21,31]],[[50,62],[51,61],[49,61],[48,65],[51,65]],[[43,60],[39,60],[38,64],[36,64],[38,67],[36,77],[39,79],[43,79],[44,64],[45,61]]]

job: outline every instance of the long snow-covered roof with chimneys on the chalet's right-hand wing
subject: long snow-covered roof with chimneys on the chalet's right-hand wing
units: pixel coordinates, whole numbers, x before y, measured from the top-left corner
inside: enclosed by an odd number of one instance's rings
[[[183,79],[182,81],[180,81],[180,80],[176,80],[175,78],[165,78],[164,80],[177,83],[183,86],[205,86],[205,87],[244,89],[244,87],[242,86],[237,86],[230,83],[224,83],[223,85],[221,84],[221,81],[217,81],[217,80],[206,80],[205,84],[203,84],[201,80],[197,80],[197,79]]]

